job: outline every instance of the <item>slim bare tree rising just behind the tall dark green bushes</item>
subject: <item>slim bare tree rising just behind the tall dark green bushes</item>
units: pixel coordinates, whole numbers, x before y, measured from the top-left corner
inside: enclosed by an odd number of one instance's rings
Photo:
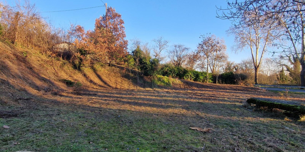
[[[168,46],[169,41],[164,40],[164,38],[162,36],[153,39],[152,40],[153,43],[155,43],[154,47],[153,47],[153,54],[152,56],[155,59],[158,59],[159,61],[162,61],[164,59],[164,57],[161,56],[161,52],[166,51]]]

